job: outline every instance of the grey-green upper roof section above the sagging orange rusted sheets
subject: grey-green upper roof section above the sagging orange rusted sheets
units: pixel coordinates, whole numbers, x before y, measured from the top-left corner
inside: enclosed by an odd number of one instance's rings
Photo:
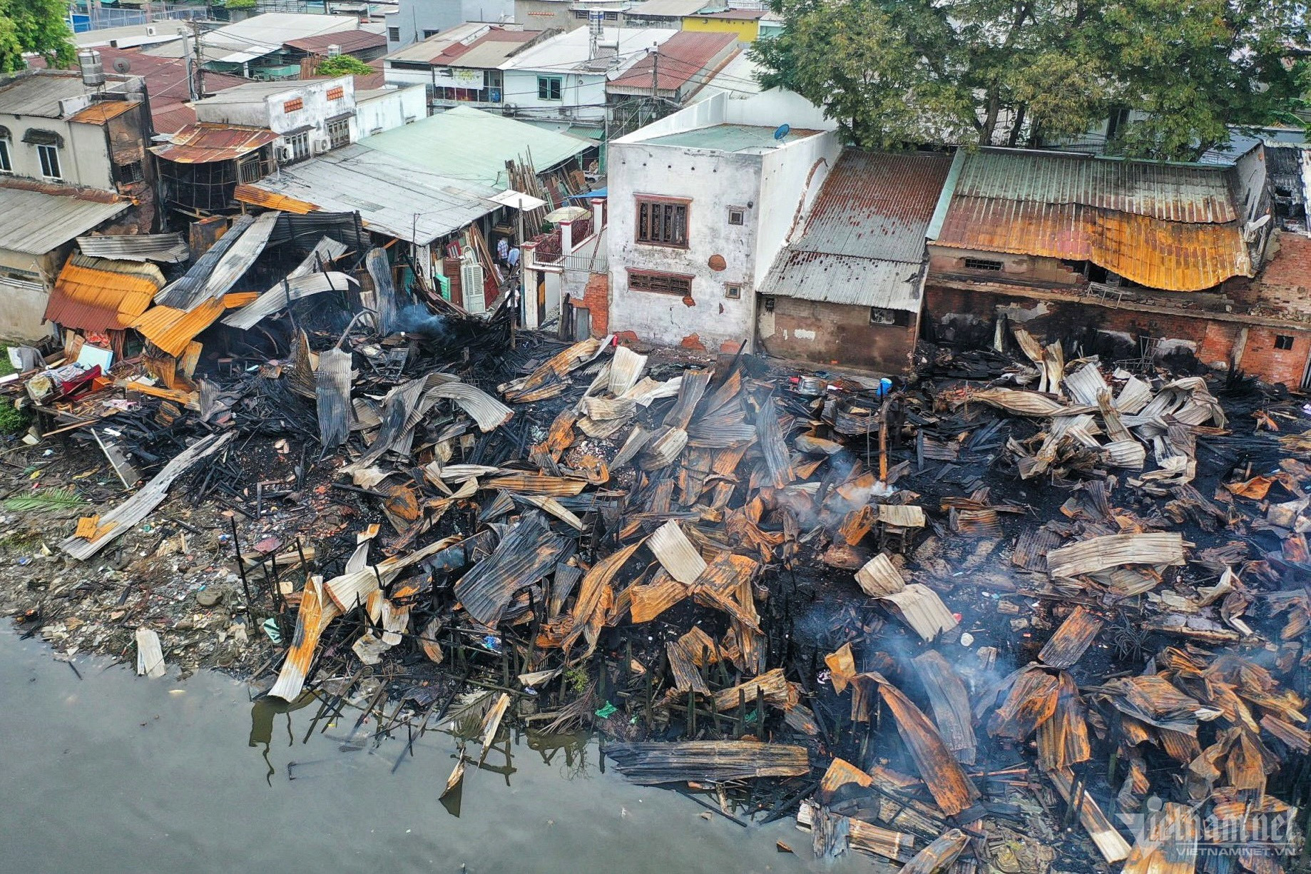
[[[1227,168],[1065,152],[979,150],[966,155],[954,194],[1082,203],[1172,222],[1238,218]]]

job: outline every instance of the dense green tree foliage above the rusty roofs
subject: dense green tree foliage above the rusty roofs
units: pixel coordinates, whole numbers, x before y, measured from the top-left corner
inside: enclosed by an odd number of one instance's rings
[[[772,0],[763,84],[856,143],[1037,144],[1134,110],[1109,144],[1181,159],[1287,119],[1304,0]]]

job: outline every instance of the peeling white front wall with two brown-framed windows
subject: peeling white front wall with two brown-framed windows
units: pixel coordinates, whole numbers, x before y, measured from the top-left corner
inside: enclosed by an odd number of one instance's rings
[[[708,349],[743,340],[750,348],[760,164],[759,155],[611,143],[607,202],[611,331],[633,331],[644,340],[671,345],[695,333]],[[637,194],[691,199],[687,249],[636,241]],[[746,207],[745,224],[728,223],[729,206]],[[709,268],[712,255],[724,256],[724,270]],[[695,306],[673,294],[631,291],[627,268],[691,274]],[[726,282],[747,287],[733,301],[724,297]]]

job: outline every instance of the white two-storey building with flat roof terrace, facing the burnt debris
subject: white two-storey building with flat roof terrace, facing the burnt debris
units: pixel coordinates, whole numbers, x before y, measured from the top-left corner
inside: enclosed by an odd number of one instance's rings
[[[721,93],[614,140],[608,329],[750,349],[755,290],[838,157],[834,127],[791,92]]]

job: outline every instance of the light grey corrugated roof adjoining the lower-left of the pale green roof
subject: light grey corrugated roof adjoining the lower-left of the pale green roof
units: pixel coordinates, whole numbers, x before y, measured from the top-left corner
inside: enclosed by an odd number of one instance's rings
[[[486,199],[497,189],[450,178],[359,143],[283,167],[254,188],[304,202],[312,198],[333,213],[359,213],[370,230],[421,245],[499,209]]]

